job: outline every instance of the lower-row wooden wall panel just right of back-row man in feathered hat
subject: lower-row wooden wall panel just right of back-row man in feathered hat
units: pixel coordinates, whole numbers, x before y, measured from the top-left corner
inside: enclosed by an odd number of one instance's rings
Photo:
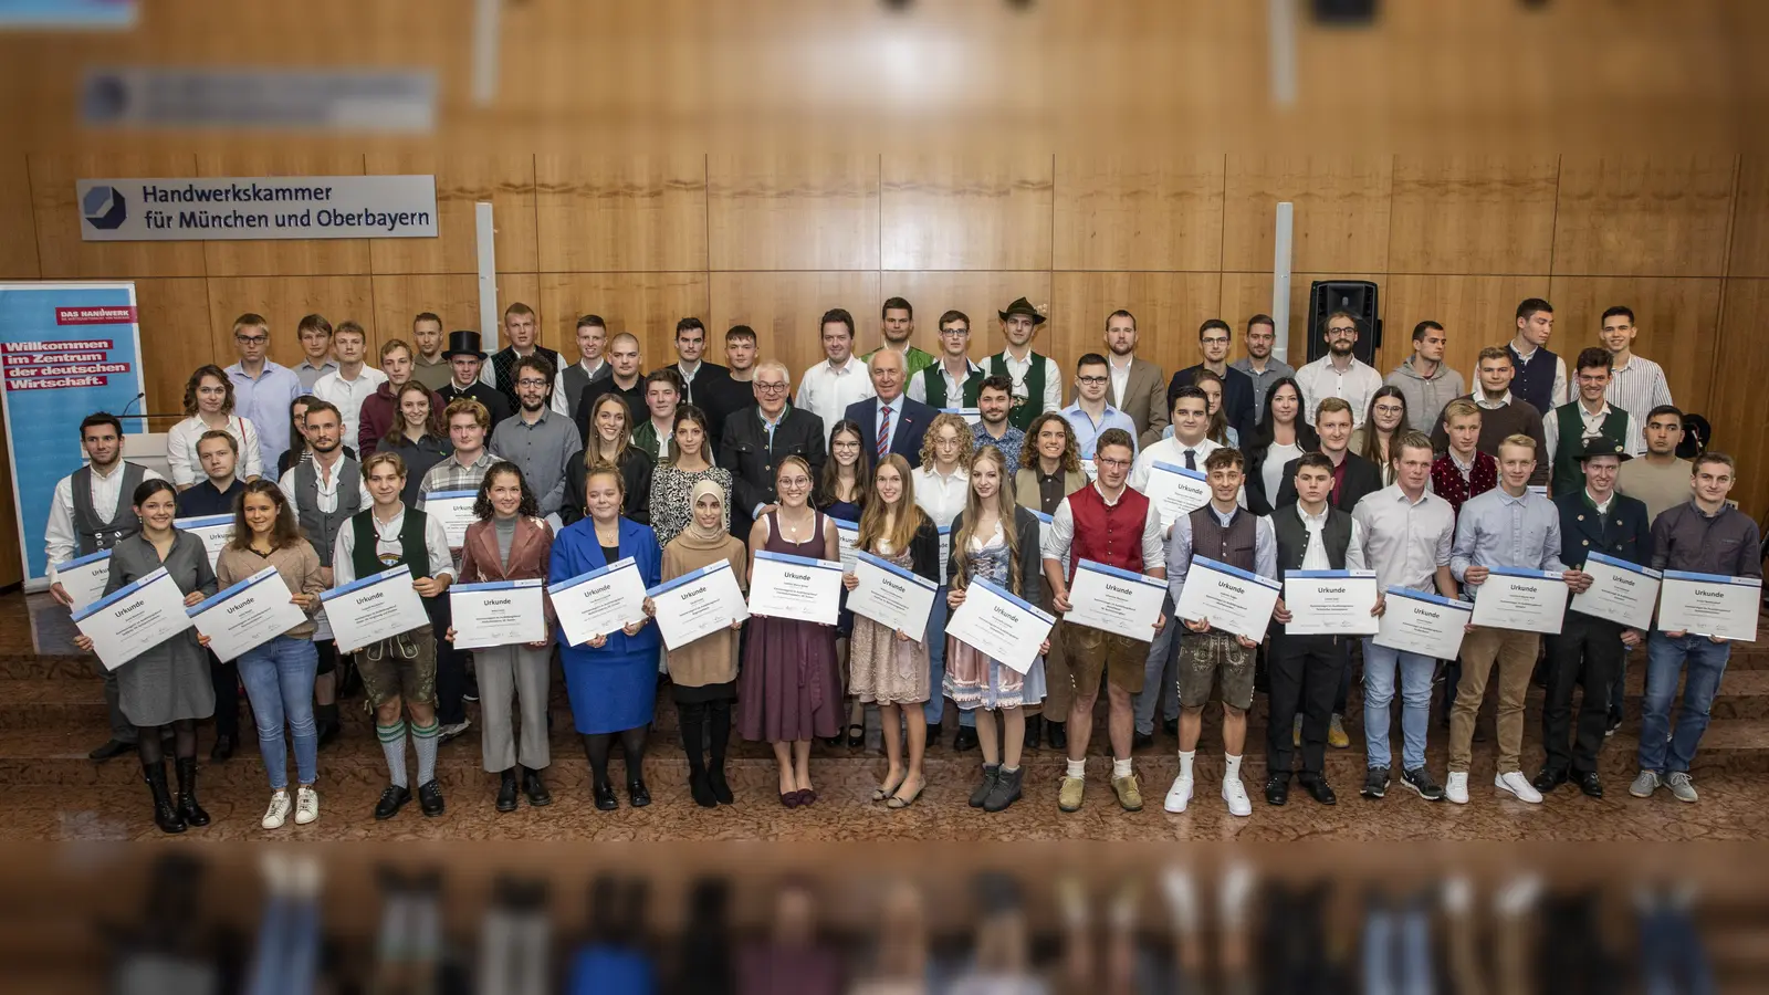
[[[1136,315],[1136,354],[1173,375],[1198,363],[1198,326],[1221,313],[1221,289],[1217,273],[1056,273],[1045,347],[1067,381],[1084,352],[1106,351],[1106,315],[1123,308]]]

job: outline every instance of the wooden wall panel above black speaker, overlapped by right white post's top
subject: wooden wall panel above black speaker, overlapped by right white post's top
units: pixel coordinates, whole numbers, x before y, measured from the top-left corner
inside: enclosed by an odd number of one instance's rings
[[[1392,156],[1228,156],[1222,269],[1270,273],[1277,204],[1293,202],[1295,273],[1387,273]]]

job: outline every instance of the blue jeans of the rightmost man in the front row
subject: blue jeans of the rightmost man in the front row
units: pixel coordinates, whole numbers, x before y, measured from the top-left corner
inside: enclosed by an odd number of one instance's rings
[[[1695,747],[1707,731],[1707,713],[1719,694],[1719,678],[1727,673],[1730,643],[1714,643],[1707,636],[1672,639],[1663,632],[1647,637],[1647,696],[1640,706],[1640,770],[1656,774],[1688,774]],[[1677,713],[1677,731],[1670,729],[1670,705],[1677,698],[1677,678],[1684,667],[1689,676],[1682,689],[1682,710]],[[1666,742],[1668,740],[1668,742]],[[1668,751],[1668,756],[1666,756]]]

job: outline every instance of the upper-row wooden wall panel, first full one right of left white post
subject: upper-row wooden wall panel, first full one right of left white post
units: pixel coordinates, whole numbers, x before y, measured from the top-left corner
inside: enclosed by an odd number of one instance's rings
[[[541,273],[706,269],[706,156],[540,156]]]

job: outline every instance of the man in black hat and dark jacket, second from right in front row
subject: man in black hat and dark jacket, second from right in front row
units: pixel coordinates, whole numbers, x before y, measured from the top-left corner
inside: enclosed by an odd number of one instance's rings
[[[1580,388],[1583,374],[1580,370]],[[1608,372],[1608,370],[1604,370]],[[1566,444],[1571,448],[1573,439]],[[1592,436],[1580,441],[1578,462],[1585,485],[1555,494],[1560,510],[1560,561],[1569,570],[1585,570],[1585,559],[1601,552],[1636,567],[1652,563],[1652,529],[1647,506],[1638,498],[1615,492],[1617,469],[1629,459],[1617,439]],[[1573,590],[1590,588],[1585,574]],[[1642,620],[1645,621],[1645,620]],[[1603,797],[1597,777],[1597,749],[1608,728],[1610,694],[1619,683],[1627,653],[1645,641],[1640,629],[1566,609],[1558,636],[1548,636],[1548,694],[1543,698],[1543,768],[1535,790],[1548,795],[1573,781],[1592,798]],[[1573,722],[1573,685],[1585,685],[1585,701]],[[1571,749],[1567,735],[1571,733]]]

